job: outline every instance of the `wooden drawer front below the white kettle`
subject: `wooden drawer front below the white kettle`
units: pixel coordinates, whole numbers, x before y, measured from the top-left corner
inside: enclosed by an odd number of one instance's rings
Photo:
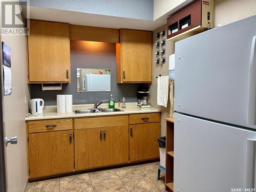
[[[53,119],[42,121],[29,121],[29,133],[72,130],[72,119]]]

